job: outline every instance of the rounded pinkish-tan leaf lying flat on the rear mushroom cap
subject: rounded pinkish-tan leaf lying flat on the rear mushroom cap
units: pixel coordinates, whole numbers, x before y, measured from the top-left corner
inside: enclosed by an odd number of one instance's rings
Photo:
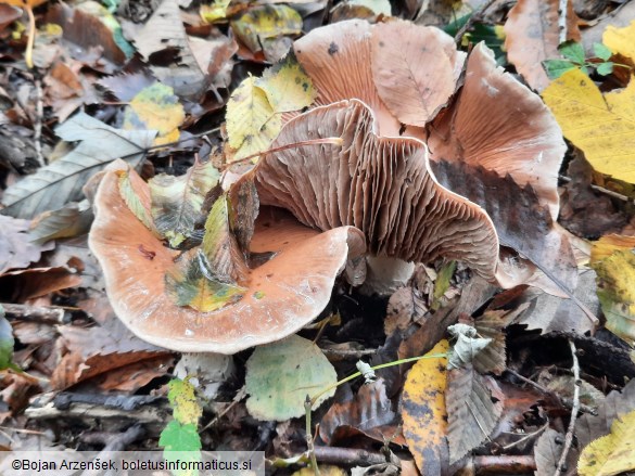
[[[465,53],[434,27],[405,21],[372,28],[372,78],[380,98],[401,123],[426,126],[454,93]]]

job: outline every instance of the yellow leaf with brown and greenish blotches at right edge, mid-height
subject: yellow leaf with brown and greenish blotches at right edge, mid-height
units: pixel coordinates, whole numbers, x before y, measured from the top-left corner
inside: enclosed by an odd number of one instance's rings
[[[632,249],[614,252],[593,265],[598,276],[597,296],[607,318],[607,329],[635,342],[635,255]]]

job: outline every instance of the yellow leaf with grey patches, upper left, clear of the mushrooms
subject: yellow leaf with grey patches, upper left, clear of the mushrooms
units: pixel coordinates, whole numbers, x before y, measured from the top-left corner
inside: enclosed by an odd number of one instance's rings
[[[186,119],[183,106],[174,90],[158,81],[143,88],[124,113],[124,129],[156,130],[155,145],[179,139],[179,126]]]

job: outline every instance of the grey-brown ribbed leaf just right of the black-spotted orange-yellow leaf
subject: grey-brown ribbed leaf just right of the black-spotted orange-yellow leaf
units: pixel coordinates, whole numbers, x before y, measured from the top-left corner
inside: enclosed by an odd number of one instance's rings
[[[455,463],[478,448],[494,430],[503,413],[498,384],[472,368],[448,371],[445,395],[449,461]]]

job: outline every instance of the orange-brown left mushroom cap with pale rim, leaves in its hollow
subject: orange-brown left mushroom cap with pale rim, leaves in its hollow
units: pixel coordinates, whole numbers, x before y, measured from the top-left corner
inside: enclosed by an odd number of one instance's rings
[[[134,171],[129,176],[149,210],[148,185]],[[242,299],[199,312],[166,294],[165,273],[177,252],[164,247],[130,211],[116,171],[104,175],[94,208],[89,246],[117,317],[143,340],[178,351],[234,353],[293,334],[329,303],[347,257],[365,252],[363,234],[352,227],[320,233],[280,210],[262,209],[251,249],[276,255],[249,271]]]

